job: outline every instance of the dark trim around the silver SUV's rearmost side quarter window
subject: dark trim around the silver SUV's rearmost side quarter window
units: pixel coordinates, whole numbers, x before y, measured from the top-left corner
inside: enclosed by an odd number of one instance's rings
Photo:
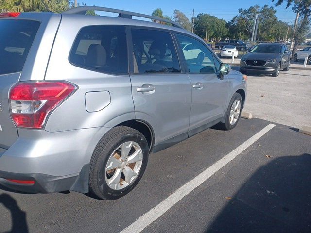
[[[85,67],[85,66],[82,66],[82,65],[76,65],[74,64],[71,59],[70,59],[70,56],[73,52],[73,49],[74,49],[74,45],[78,39],[78,36],[79,34],[81,33],[81,31],[84,29],[84,28],[88,28],[88,27],[96,27],[96,26],[119,26],[119,27],[123,27],[124,29],[124,32],[125,32],[125,40],[127,41],[127,33],[126,33],[126,26],[125,25],[119,25],[119,24],[94,24],[94,25],[87,25],[87,26],[84,26],[82,28],[80,28],[79,32],[76,34],[73,42],[72,42],[72,45],[71,45],[71,49],[69,51],[69,55],[68,55],[68,61],[69,63],[74,66],[74,67],[79,67],[79,68],[82,68],[82,69],[86,69],[86,70],[90,70],[90,71],[94,71],[94,72],[97,72],[97,73],[102,73],[102,74],[109,74],[109,75],[116,75],[116,76],[128,76],[129,75],[129,63],[130,61],[128,60],[128,43],[126,43],[126,52],[127,52],[127,72],[124,72],[124,73],[120,73],[120,72],[109,72],[109,71],[100,71],[98,69],[93,69],[91,67]]]

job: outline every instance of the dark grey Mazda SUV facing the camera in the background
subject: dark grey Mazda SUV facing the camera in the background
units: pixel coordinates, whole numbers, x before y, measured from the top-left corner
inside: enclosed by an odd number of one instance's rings
[[[240,72],[249,71],[278,76],[280,70],[291,67],[291,52],[285,44],[264,43],[257,45],[241,58]]]

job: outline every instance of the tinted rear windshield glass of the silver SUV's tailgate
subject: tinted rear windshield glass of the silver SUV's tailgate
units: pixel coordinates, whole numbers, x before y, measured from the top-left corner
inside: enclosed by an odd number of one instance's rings
[[[32,20],[0,20],[0,75],[22,71],[39,26]]]

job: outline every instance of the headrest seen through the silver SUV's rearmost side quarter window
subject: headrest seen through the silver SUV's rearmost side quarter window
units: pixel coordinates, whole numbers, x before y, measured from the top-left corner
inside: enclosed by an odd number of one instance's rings
[[[92,67],[102,67],[106,65],[107,52],[104,46],[91,44],[88,47],[86,64]]]

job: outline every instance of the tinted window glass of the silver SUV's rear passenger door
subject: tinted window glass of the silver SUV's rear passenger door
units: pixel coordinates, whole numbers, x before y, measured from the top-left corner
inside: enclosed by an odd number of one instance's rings
[[[179,73],[180,66],[169,32],[132,29],[134,65],[139,73]]]

